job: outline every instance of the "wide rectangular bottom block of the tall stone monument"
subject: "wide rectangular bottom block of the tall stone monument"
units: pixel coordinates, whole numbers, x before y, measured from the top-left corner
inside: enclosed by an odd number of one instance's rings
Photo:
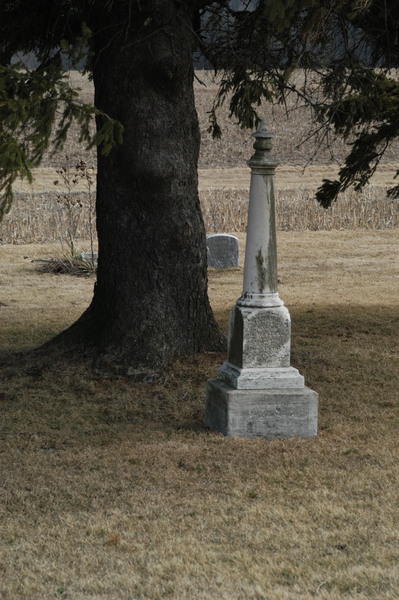
[[[220,379],[208,379],[205,425],[226,436],[314,437],[317,398],[307,387],[237,390]]]

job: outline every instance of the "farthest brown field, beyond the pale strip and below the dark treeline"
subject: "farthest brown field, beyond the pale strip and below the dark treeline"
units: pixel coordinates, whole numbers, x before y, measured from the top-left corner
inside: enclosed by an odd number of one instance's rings
[[[212,106],[217,85],[209,72],[197,72],[198,77],[205,83],[195,83],[196,106],[201,130],[201,151],[199,157],[200,169],[235,168],[246,165],[252,153],[253,139],[251,131],[240,127],[229,119],[228,107],[224,105],[219,111],[219,121],[223,136],[220,140],[212,139],[208,132],[208,111]],[[80,88],[81,97],[92,101],[93,86],[87,78],[71,71],[72,85]],[[347,152],[348,146],[340,139],[330,136],[329,144],[320,144],[317,138],[307,138],[308,124],[311,120],[310,111],[301,106],[296,106],[293,99],[289,99],[288,116],[282,105],[271,106],[265,104],[260,113],[266,119],[269,129],[276,134],[275,149],[282,165],[304,166],[310,162],[314,165],[339,164]],[[396,163],[399,142],[395,142],[384,155],[382,163]],[[68,139],[67,153],[72,161],[83,159],[87,164],[94,165],[95,153],[82,150],[79,143],[79,131],[76,127],[71,130]],[[59,167],[63,163],[63,155],[56,154],[45,157],[43,166]]]

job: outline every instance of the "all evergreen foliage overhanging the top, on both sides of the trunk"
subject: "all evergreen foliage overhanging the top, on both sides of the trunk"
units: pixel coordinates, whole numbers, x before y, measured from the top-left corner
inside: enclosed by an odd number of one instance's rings
[[[0,217],[12,200],[17,177],[32,177],[45,150],[62,147],[73,120],[81,140],[109,152],[121,140],[122,125],[79,101],[62,71],[61,57],[86,68],[107,15],[120,14],[123,38],[129,27],[143,30],[160,0],[5,0],[0,6]],[[221,85],[210,114],[210,128],[221,135],[217,109],[229,102],[242,127],[259,121],[263,100],[284,102],[295,93],[315,111],[318,127],[354,139],[337,181],[317,193],[329,206],[348,186],[363,186],[389,143],[398,136],[399,5],[396,0],[190,0],[198,19],[192,35]],[[183,5],[180,10],[185,10]],[[102,51],[106,52],[106,48]],[[33,52],[36,69],[11,66],[17,53]],[[378,69],[373,69],[377,67]],[[315,101],[306,83],[295,87],[297,68],[317,72],[322,95]],[[305,80],[306,81],[306,80]],[[97,117],[97,133],[89,124]],[[399,186],[390,191],[399,196]]]

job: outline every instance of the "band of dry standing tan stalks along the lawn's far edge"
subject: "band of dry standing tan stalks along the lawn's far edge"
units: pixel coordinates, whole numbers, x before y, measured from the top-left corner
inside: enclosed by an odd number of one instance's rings
[[[249,178],[248,178],[249,183]],[[291,181],[290,181],[290,185]],[[314,189],[277,188],[277,229],[280,231],[332,231],[355,229],[395,229],[399,205],[386,195],[386,186],[368,186],[362,193],[349,190],[329,209],[314,199]],[[200,201],[208,234],[244,232],[247,225],[248,188],[200,189]],[[61,205],[51,192],[21,194],[12,212],[0,224],[6,244],[63,242],[88,250],[82,242],[95,235],[93,203],[84,192],[73,192],[68,206]],[[73,223],[73,227],[71,226]],[[82,245],[83,244],[83,245]]]

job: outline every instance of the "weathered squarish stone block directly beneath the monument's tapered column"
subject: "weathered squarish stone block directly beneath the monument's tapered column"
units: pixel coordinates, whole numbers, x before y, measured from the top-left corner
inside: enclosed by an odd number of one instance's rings
[[[285,306],[230,312],[228,361],[238,367],[290,366],[291,319]]]

